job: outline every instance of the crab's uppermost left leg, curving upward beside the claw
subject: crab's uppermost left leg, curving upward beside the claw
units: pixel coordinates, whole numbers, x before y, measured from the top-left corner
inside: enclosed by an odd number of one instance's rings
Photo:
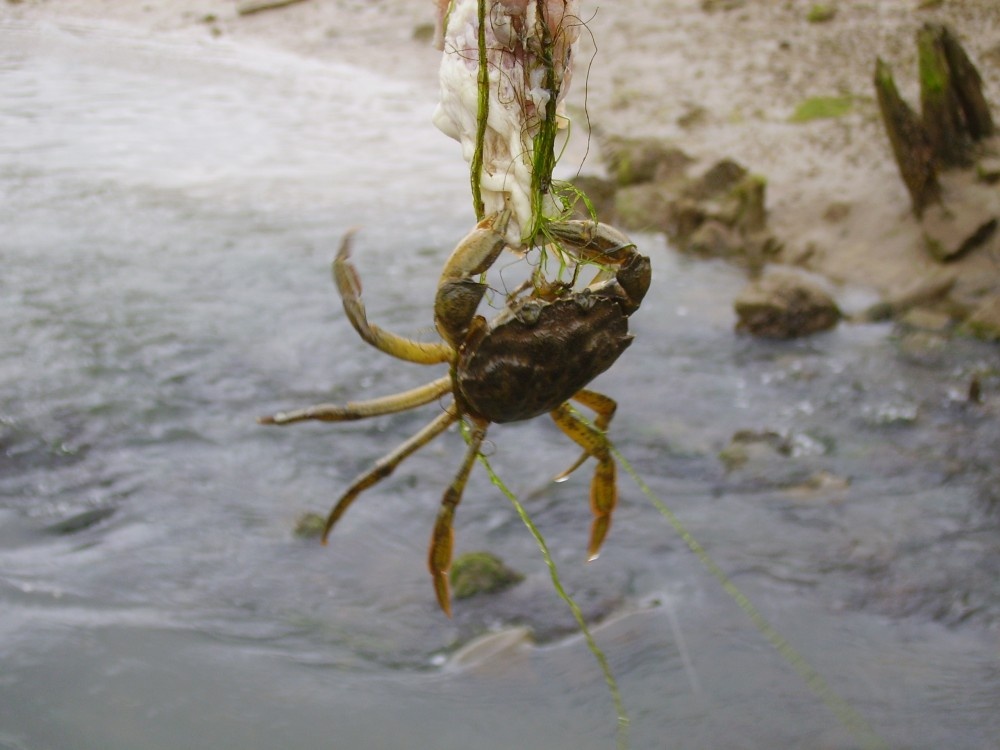
[[[413,341],[368,322],[368,315],[361,301],[361,277],[351,263],[351,238],[354,236],[354,231],[351,230],[344,235],[340,251],[333,261],[333,281],[337,285],[337,291],[340,292],[340,298],[344,303],[344,312],[354,330],[376,349],[398,359],[422,365],[450,362],[454,357],[454,351],[443,342]]]

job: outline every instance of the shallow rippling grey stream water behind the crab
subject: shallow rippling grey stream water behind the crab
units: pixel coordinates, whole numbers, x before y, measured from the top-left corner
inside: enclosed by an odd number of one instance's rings
[[[371,318],[432,337],[471,214],[433,86],[225,41],[12,21],[0,37],[0,747],[610,746],[600,672],[480,471],[458,549],[527,579],[437,610],[424,557],[456,434],[328,547],[293,536],[433,407],[254,422],[440,374],[358,341],[328,265],[360,225]],[[596,383],[622,453],[890,746],[1000,747],[995,348],[913,354],[887,326],[738,338],[739,272],[641,240],[654,287]],[[789,455],[727,472],[742,429]],[[547,481],[572,446],[545,420],[490,440],[604,618],[634,747],[856,746],[627,475],[584,565],[586,472]],[[820,472],[835,481],[811,488]],[[448,661],[524,623],[538,646]]]

